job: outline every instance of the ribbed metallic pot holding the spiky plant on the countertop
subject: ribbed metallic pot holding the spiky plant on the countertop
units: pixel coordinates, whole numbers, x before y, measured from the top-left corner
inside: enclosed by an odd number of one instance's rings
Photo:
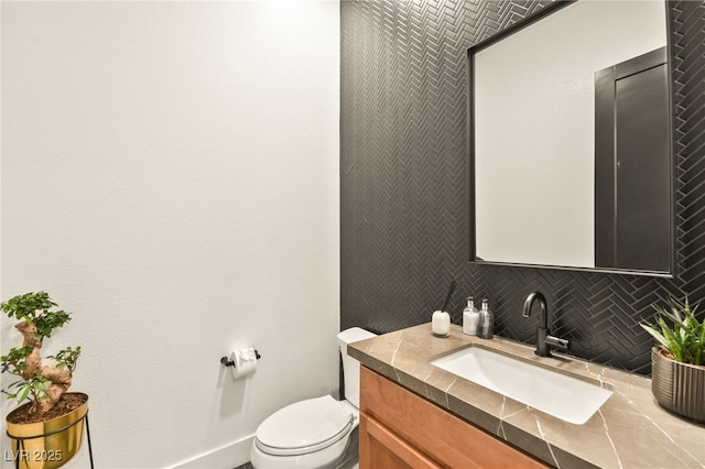
[[[651,392],[662,407],[705,423],[705,367],[671,360],[653,347]]]

